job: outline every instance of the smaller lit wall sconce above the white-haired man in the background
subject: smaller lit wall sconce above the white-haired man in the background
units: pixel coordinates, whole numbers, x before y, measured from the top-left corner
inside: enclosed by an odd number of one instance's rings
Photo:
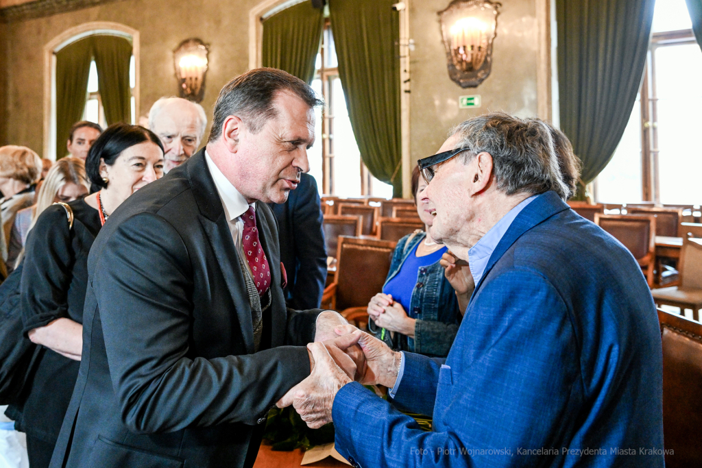
[[[173,51],[180,97],[200,102],[205,95],[208,46],[200,39],[185,39]]]

